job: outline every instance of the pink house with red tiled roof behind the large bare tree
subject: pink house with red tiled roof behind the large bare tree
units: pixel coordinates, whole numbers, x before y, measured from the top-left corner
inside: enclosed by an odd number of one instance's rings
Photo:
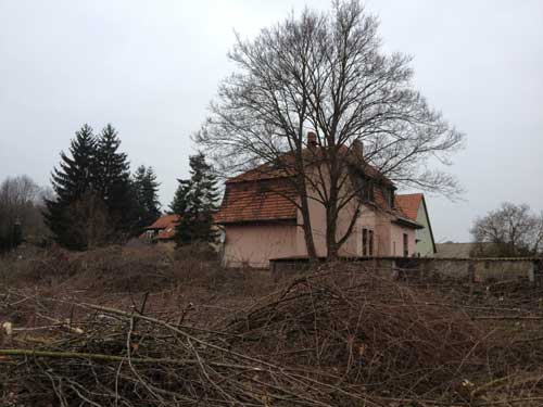
[[[310,148],[304,150],[303,156],[311,160],[306,166],[311,176],[319,169],[318,160],[313,157],[318,157],[323,148],[316,145],[311,133],[308,137]],[[351,149],[343,147],[341,153],[349,160],[351,183],[361,191],[355,200],[362,201],[363,207],[339,255],[416,255],[415,231],[422,226],[395,207],[396,188],[392,181],[363,158],[357,158],[363,156],[362,144]],[[281,158],[289,160],[289,156],[285,154]],[[316,192],[308,190],[307,193],[311,198]],[[272,258],[306,256],[303,228],[300,227],[302,215],[292,202],[298,201],[296,196],[293,175],[270,164],[228,179],[215,218],[225,228],[225,265],[265,268]],[[354,216],[355,200],[340,212],[338,233],[346,230]],[[310,216],[317,255],[326,256],[325,207],[313,199],[310,199]]]

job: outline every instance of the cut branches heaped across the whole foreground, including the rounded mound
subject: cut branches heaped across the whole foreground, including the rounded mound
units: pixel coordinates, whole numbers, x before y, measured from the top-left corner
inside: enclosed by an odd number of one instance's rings
[[[0,315],[23,305],[36,317],[25,326],[2,321],[5,405],[538,403],[536,371],[506,371],[512,354],[491,343],[491,327],[431,290],[348,265],[298,277],[205,323],[146,310],[144,300],[117,309],[39,293],[0,295]],[[505,360],[502,370],[491,357]],[[491,394],[504,387],[508,393]]]

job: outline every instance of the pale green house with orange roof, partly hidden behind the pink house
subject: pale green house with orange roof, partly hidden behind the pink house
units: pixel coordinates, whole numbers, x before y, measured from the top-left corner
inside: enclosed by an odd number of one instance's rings
[[[421,193],[396,195],[396,206],[402,209],[409,219],[422,226],[421,229],[415,232],[417,255],[421,257],[434,257],[437,250],[425,195]]]

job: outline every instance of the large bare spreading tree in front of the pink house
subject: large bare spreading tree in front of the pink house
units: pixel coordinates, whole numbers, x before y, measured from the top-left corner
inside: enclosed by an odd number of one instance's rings
[[[349,156],[361,155],[359,163],[404,186],[459,191],[453,177],[430,165],[449,164],[463,135],[413,88],[409,56],[382,52],[378,25],[358,1],[333,2],[328,13],[306,9],[252,40],[238,36],[229,54],[237,69],[197,136],[226,174],[273,163],[261,168],[292,175],[310,257],[316,253],[308,200],[326,208],[329,257],[362,209]],[[307,130],[318,149],[308,145]],[[353,202],[352,221],[339,233],[339,213]]]

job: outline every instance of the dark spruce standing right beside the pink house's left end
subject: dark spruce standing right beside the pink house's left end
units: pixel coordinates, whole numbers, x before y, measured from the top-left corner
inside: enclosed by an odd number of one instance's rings
[[[213,231],[213,214],[219,198],[216,176],[203,153],[192,155],[189,160],[190,180],[179,180],[178,193],[172,205],[180,216],[176,228],[178,245],[216,239]]]

